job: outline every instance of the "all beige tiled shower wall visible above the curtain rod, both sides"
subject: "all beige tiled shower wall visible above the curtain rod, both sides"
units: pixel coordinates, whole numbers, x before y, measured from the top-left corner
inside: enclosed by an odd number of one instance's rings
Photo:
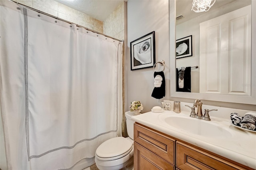
[[[122,2],[105,21],[100,21],[54,0],[14,1],[96,32],[124,40],[124,2]]]

